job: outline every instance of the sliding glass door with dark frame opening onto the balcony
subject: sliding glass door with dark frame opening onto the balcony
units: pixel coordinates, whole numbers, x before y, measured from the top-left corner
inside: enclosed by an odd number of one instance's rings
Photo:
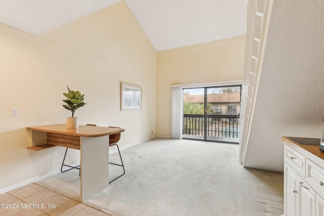
[[[241,85],[183,89],[183,138],[238,143]]]

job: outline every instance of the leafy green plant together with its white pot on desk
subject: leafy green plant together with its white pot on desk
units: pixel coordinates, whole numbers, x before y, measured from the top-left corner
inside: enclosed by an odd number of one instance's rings
[[[81,95],[79,91],[70,90],[68,86],[66,87],[68,93],[63,93],[63,95],[68,99],[63,100],[67,104],[64,104],[63,107],[72,112],[72,116],[66,118],[66,128],[77,128],[77,117],[74,116],[74,113],[75,110],[77,110],[80,107],[83,107],[86,104],[85,102],[83,102],[85,95]]]

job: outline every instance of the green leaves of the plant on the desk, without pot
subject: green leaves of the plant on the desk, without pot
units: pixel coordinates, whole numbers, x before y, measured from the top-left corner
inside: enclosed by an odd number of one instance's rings
[[[86,103],[83,102],[85,95],[81,95],[79,91],[72,91],[69,89],[68,86],[67,90],[68,93],[63,93],[65,97],[68,99],[63,100],[67,105],[63,105],[65,109],[68,109],[72,112],[72,117],[74,115],[75,110],[77,110],[80,107],[83,107]]]

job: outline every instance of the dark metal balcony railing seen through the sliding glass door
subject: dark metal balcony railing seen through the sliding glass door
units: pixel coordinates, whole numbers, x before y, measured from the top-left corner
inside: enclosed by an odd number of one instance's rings
[[[205,136],[205,115],[184,114],[183,135]],[[239,114],[207,114],[206,135],[208,138],[235,138],[239,137]]]

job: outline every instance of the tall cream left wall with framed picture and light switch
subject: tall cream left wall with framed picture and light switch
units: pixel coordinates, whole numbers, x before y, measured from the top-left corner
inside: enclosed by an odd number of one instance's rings
[[[66,85],[86,95],[80,124],[126,128],[120,146],[155,136],[156,52],[124,2],[39,36],[0,24],[0,48],[0,189],[60,168],[65,149],[27,150],[25,127],[65,123]],[[142,86],[141,111],[120,111],[121,81]]]

